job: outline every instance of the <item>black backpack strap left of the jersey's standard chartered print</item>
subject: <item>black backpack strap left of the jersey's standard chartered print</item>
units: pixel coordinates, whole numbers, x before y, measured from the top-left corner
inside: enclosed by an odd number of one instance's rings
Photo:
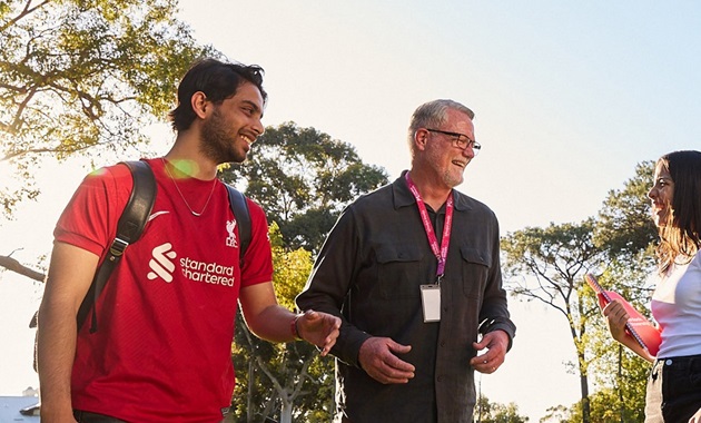
[[[90,309],[92,309],[90,333],[97,331],[95,304],[125,249],[129,244],[136,243],[141,236],[156,199],[156,178],[148,164],[139,160],[124,161],[122,165],[126,165],[131,171],[134,188],[131,189],[129,201],[117,223],[117,236],[109,246],[107,256],[96,272],[92,284],[78,309],[78,331],[82,327]]]

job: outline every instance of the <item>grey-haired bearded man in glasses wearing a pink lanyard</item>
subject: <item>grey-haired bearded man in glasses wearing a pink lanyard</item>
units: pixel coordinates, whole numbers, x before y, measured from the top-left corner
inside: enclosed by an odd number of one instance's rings
[[[473,118],[452,100],[416,109],[411,169],[344,210],[297,297],[342,318],[336,422],[472,422],[474,371],[504,363],[498,224],[454,189],[481,150]]]

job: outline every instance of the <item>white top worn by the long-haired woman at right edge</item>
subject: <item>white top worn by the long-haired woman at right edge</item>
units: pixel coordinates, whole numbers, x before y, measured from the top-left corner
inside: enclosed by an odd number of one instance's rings
[[[701,252],[674,264],[652,295],[652,315],[662,331],[658,358],[701,354]]]

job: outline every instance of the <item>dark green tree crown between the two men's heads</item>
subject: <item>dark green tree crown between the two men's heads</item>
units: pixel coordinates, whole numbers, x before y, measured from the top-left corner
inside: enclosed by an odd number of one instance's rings
[[[245,180],[246,195],[279,225],[286,248],[317,252],[343,207],[387,183],[384,169],[363,164],[348,142],[294,122],[268,127],[248,161],[223,174]]]

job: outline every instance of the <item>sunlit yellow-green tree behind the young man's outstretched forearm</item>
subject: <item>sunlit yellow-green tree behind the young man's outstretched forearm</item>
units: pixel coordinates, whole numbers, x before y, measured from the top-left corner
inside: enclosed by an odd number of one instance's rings
[[[294,309],[295,296],[312,270],[312,255],[286,250],[277,224],[270,225],[273,283],[280,305]],[[235,421],[328,422],[334,411],[333,358],[306,342],[271,344],[250,334],[240,314],[233,357],[237,368]]]

